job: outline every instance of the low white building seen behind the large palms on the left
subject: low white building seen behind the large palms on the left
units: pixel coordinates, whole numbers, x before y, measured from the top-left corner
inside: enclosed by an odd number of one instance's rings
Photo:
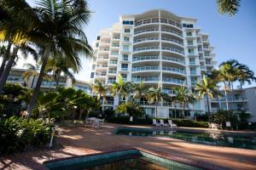
[[[7,79],[7,82],[12,82],[12,83],[19,83],[21,86],[26,86],[28,88],[35,88],[38,77],[31,77],[28,82],[26,82],[23,78],[23,74],[26,71],[26,69],[18,69],[18,68],[12,68],[12,70],[9,73],[9,77]],[[76,89],[81,89],[87,94],[91,94],[91,88],[90,88],[90,83],[89,82],[83,82],[76,80],[73,84],[72,81],[66,77],[61,77],[61,80],[59,82],[60,86],[69,88],[73,87]],[[50,81],[50,80],[43,80],[41,82],[41,88],[42,89],[50,89],[50,88],[55,88],[55,81]]]

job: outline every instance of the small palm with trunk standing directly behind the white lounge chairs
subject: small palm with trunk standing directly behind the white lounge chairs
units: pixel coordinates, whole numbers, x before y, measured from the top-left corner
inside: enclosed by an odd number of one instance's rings
[[[157,106],[159,102],[167,98],[167,94],[162,93],[162,88],[158,84],[157,88],[148,88],[148,94],[146,94],[146,99],[148,99],[149,104],[155,104],[155,117],[157,117]]]

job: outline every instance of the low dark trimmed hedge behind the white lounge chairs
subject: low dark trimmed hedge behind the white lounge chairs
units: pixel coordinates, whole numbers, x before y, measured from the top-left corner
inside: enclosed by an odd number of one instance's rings
[[[163,119],[164,122],[168,122],[167,118],[156,118],[157,120]],[[129,125],[152,125],[152,118],[137,118],[134,117],[133,121],[130,122],[129,116],[116,116],[108,118],[108,122],[129,124]],[[188,119],[172,119],[173,123],[177,124],[177,127],[204,127],[207,128],[208,122],[195,122]]]

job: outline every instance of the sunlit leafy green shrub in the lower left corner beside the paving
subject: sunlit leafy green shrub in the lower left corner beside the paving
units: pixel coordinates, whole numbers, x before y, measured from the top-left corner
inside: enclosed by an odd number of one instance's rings
[[[30,120],[15,116],[0,121],[0,153],[20,152],[25,146],[40,146],[49,142],[52,121]]]

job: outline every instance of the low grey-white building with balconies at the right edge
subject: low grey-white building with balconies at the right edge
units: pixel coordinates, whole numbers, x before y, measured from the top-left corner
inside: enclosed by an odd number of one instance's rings
[[[256,122],[256,87],[253,88],[237,88],[227,94],[227,99],[224,97],[224,91],[220,91],[222,97],[211,99],[210,109],[216,112],[219,109],[246,111],[251,114],[250,122]],[[227,108],[228,103],[228,108]]]

